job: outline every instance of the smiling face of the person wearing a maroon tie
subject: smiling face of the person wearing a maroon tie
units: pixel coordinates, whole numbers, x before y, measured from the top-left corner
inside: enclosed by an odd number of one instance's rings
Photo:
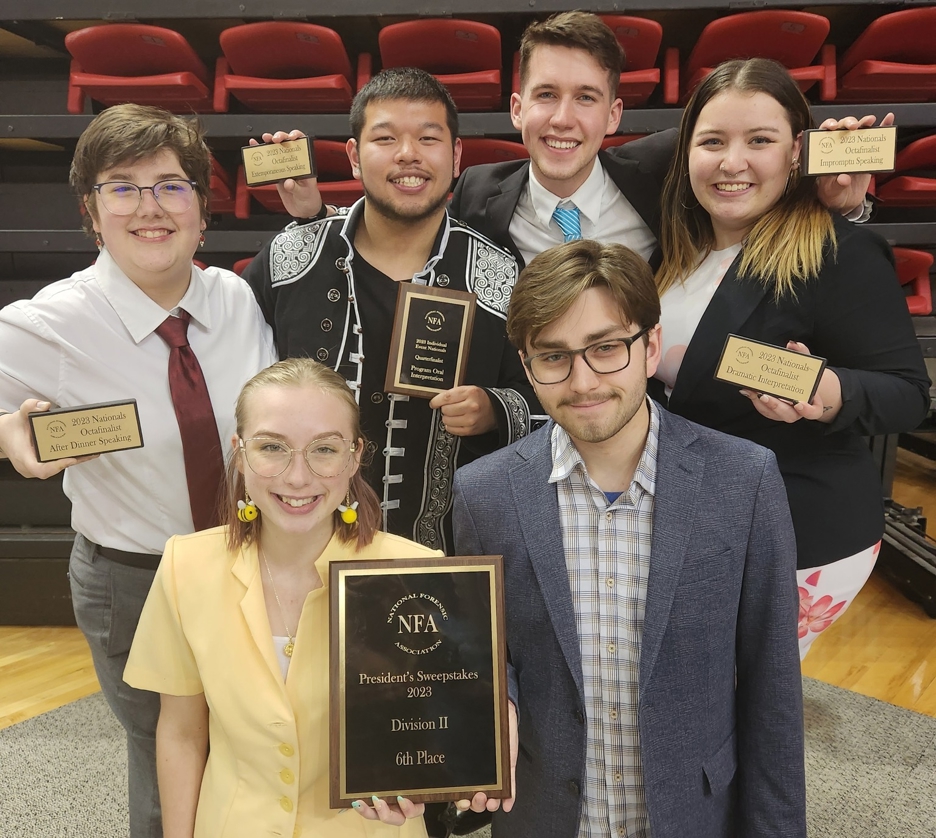
[[[183,179],[175,152],[164,149],[136,163],[118,164],[98,173],[97,182],[126,181],[137,186],[153,186],[161,180]],[[86,198],[94,231],[100,236],[118,267],[148,296],[171,308],[182,298],[192,274],[192,257],[205,222],[196,192],[185,212],[168,213],[156,203],[151,190],[131,215],[114,215],[100,198]]]

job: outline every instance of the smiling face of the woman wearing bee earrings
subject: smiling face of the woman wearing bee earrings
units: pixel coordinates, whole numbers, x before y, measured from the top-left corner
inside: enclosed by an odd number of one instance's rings
[[[250,394],[243,439],[265,437],[290,448],[305,449],[327,438],[353,439],[351,409],[332,393],[313,385],[268,385]],[[251,500],[260,510],[264,538],[316,533],[325,538],[335,526],[335,510],[343,503],[360,463],[362,442],[348,467],[335,477],[320,477],[305,457],[292,455],[288,468],[276,477],[261,477],[237,454],[237,468]]]

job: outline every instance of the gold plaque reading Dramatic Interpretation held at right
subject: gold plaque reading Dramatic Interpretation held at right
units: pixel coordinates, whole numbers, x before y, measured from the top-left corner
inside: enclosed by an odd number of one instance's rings
[[[769,343],[728,335],[715,378],[786,402],[808,402],[816,393],[826,359]]]

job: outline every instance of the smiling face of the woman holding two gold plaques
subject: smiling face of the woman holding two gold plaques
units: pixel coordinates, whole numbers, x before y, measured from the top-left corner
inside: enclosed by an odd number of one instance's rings
[[[712,219],[716,250],[742,241],[780,200],[800,143],[786,110],[766,93],[728,90],[702,108],[689,181]]]

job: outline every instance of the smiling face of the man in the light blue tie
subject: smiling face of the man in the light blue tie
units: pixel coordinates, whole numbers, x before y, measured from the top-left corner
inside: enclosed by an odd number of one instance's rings
[[[537,46],[510,117],[530,153],[536,179],[567,198],[588,178],[601,141],[617,130],[621,100],[608,71],[585,50]]]

